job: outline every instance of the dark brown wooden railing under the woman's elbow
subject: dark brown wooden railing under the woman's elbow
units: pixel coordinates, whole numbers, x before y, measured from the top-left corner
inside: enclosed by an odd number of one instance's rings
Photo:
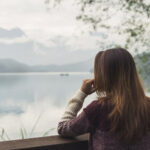
[[[74,138],[59,135],[0,142],[0,150],[87,150],[89,134]]]

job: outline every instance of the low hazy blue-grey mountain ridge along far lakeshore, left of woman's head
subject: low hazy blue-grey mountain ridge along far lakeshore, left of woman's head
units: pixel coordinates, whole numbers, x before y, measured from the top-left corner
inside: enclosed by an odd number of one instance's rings
[[[65,65],[29,66],[13,59],[0,59],[0,72],[89,72],[93,68],[93,59]]]

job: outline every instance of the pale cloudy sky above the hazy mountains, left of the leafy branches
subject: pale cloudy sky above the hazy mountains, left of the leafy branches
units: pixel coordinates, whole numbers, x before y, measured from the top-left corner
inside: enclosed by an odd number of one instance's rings
[[[49,7],[49,10],[48,10]],[[100,34],[75,17],[72,0],[52,8],[44,0],[0,0],[0,59],[29,65],[67,64],[91,59]]]

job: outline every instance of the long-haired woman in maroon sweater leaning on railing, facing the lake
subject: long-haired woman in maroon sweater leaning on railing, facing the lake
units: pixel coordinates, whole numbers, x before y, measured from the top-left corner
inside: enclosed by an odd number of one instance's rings
[[[85,98],[93,100],[77,116]],[[100,51],[94,79],[83,80],[58,124],[58,133],[90,133],[89,150],[150,150],[150,98],[144,93],[131,54],[123,48]]]

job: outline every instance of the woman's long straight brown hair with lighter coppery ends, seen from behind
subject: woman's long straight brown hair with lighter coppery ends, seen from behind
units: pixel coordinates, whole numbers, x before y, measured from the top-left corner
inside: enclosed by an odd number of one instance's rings
[[[110,132],[126,144],[138,142],[150,131],[150,98],[145,95],[132,55],[123,48],[100,51],[95,57],[96,93],[106,92],[112,111]]]

